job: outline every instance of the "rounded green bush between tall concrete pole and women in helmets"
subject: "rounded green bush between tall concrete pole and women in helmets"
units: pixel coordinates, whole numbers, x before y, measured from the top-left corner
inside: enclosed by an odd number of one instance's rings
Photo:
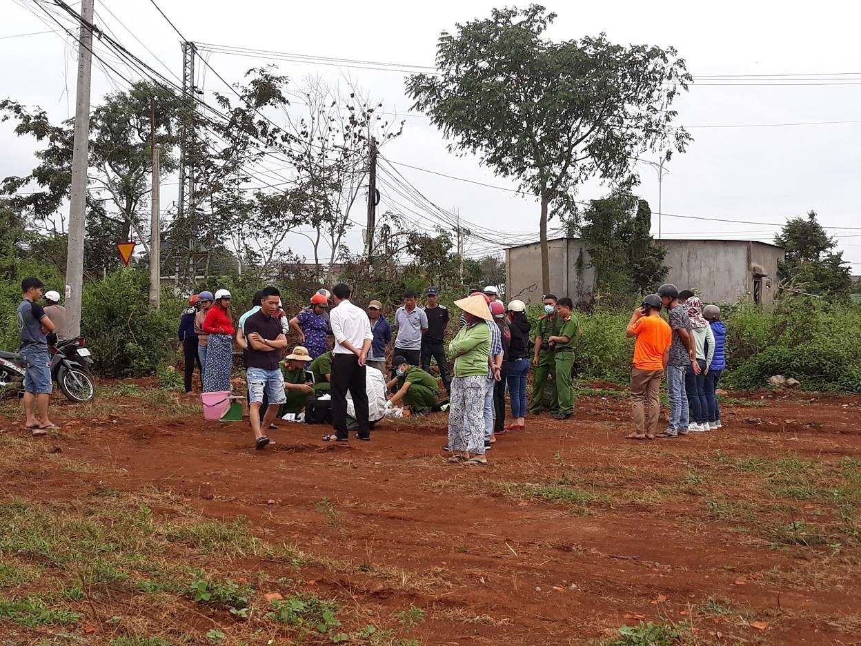
[[[183,301],[163,295],[158,311],[149,306],[149,275],[116,270],[84,285],[81,332],[104,376],[152,375],[171,355]]]

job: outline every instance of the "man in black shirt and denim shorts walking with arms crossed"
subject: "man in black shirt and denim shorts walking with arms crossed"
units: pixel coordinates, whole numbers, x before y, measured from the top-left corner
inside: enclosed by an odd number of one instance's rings
[[[278,365],[281,351],[287,347],[287,337],[276,313],[281,293],[275,287],[263,289],[260,310],[245,320],[245,376],[248,381],[248,413],[254,431],[255,448],[263,450],[270,440],[263,434],[264,428],[275,421],[278,407],[287,397],[284,395],[284,376]],[[268,395],[269,404],[263,415],[263,393]]]

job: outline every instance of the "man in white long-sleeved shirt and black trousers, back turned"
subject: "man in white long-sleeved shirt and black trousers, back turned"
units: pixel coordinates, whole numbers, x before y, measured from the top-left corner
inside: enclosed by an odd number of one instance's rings
[[[346,442],[347,392],[356,407],[359,424],[356,439],[369,440],[368,390],[365,360],[371,348],[374,333],[368,314],[350,302],[350,287],[338,283],[331,289],[335,307],[329,313],[335,347],[331,351],[331,425],[334,433],[326,435],[325,442]]]

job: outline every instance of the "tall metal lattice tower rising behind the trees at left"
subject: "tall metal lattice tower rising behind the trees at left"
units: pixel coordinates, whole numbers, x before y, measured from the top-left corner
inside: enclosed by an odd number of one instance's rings
[[[195,56],[197,46],[183,42],[183,116],[179,135],[179,196],[177,199],[177,221],[186,227],[189,236],[189,280],[196,276],[195,235],[192,222],[195,218]],[[181,258],[177,254],[177,258]],[[177,260],[177,278],[179,261]]]

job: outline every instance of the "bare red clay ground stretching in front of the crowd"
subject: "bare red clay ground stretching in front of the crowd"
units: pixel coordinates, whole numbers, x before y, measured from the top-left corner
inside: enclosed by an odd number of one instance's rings
[[[400,571],[393,581],[318,567],[307,578],[321,597],[423,608],[411,635],[423,644],[584,644],[640,619],[692,620],[697,643],[858,643],[858,544],[776,549],[755,522],[715,518],[708,501],[771,504],[771,524],[830,519],[824,503],[764,499],[760,488],[779,475],[733,461],[861,459],[861,399],[749,397],[765,406],[726,405],[724,429],[655,442],[624,439],[623,398],[584,397],[575,419],[532,417],[473,468],[446,462],[443,413],[384,422],[371,442],[349,445],[321,442],[325,427],[282,422],[276,446],[256,451],[247,423],[162,422],[123,407],[46,441],[107,475],[21,465],[5,489],[31,500],[156,490],[208,517],[244,516],[309,555]],[[596,500],[523,494],[536,485]],[[323,499],[338,522],[320,511]],[[703,611],[709,598],[736,611]]]

